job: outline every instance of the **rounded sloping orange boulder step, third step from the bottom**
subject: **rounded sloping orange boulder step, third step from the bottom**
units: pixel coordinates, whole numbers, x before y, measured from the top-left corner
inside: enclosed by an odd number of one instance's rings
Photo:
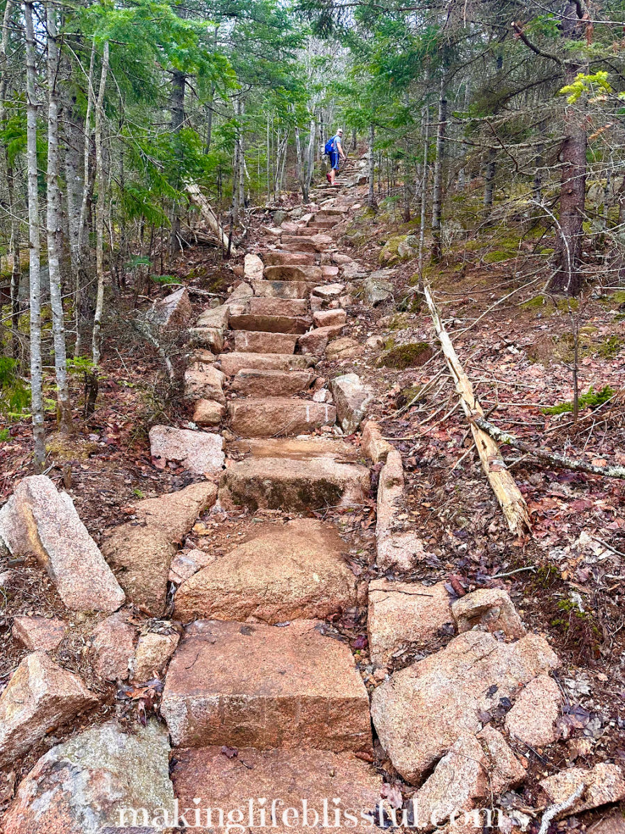
[[[357,602],[344,550],[333,526],[316,519],[273,527],[183,582],[174,615],[185,622],[325,619]]]

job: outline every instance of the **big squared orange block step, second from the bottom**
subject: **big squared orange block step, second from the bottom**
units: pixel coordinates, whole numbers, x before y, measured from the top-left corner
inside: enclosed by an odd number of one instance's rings
[[[161,705],[174,746],[368,750],[367,690],[349,647],[320,627],[189,625]]]

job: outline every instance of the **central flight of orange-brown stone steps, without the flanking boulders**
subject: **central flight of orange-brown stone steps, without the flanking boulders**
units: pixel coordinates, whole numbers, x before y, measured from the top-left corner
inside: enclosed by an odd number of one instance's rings
[[[380,796],[379,777],[355,756],[371,759],[368,692],[348,645],[326,636],[322,622],[362,604],[364,589],[334,526],[302,517],[361,505],[369,491],[368,466],[358,447],[334,436],[336,409],[315,371],[347,321],[340,295],[325,293],[338,268],[320,263],[332,244],[325,233],[343,214],[327,208],[304,218],[263,262],[247,255],[238,298],[226,302],[214,367],[238,440],[227,446],[218,500],[293,520],[254,534],[175,595],[175,616],[189,625],[162,711],[179,748],[174,784],[187,804],[188,791],[206,806],[242,798],[222,746],[275,771],[265,792],[286,791],[296,806],[319,795],[319,780],[340,784],[348,806],[373,811]],[[335,289],[344,294],[342,284]]]

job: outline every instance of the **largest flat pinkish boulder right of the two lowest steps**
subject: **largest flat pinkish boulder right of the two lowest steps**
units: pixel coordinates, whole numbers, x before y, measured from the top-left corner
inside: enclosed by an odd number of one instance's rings
[[[556,666],[540,635],[503,643],[467,631],[378,686],[373,723],[393,766],[414,784],[460,736],[480,730],[482,713],[501,698],[516,699],[520,687]]]

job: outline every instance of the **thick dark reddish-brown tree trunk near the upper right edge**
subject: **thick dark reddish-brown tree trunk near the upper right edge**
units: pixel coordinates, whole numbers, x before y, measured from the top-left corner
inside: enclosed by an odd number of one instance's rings
[[[581,3],[579,4],[582,5]],[[578,39],[582,32],[578,28],[577,3],[567,3],[562,16],[562,38]],[[581,16],[580,16],[581,17]],[[581,29],[585,29],[583,26]],[[577,73],[584,70],[583,59],[572,55],[565,64],[565,83],[571,84]],[[564,133],[562,143],[562,181],[560,185],[560,219],[557,229],[555,265],[552,278],[554,292],[577,295],[582,289],[579,262],[582,255],[583,213],[586,201],[586,113],[585,100],[580,97],[576,103],[567,104],[564,109]]]

